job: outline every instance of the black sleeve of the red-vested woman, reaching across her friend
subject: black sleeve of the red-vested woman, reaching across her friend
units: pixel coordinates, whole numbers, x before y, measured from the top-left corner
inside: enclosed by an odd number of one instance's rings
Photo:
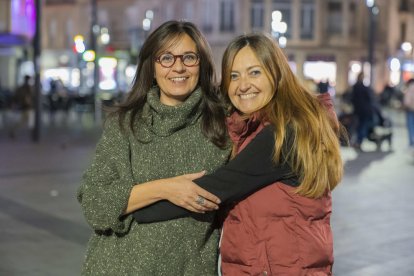
[[[239,201],[255,191],[283,180],[297,186],[297,178],[287,164],[275,165],[273,127],[265,127],[253,140],[227,165],[214,173],[205,175],[194,182],[219,197],[222,205]],[[140,223],[165,221],[193,214],[169,201],[159,201],[134,212]]]

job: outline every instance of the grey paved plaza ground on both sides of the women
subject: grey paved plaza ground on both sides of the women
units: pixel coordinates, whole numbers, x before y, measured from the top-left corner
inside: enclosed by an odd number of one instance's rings
[[[401,113],[394,150],[343,148],[346,175],[333,192],[335,275],[414,275],[414,158]],[[90,229],[75,192],[100,128],[45,129],[34,144],[0,128],[0,275],[79,275]]]

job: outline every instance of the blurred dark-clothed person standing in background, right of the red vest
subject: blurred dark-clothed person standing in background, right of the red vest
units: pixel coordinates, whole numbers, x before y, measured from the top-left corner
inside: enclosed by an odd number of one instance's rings
[[[364,73],[360,72],[352,87],[351,102],[357,119],[356,139],[353,147],[362,151],[361,144],[367,138],[369,129],[375,125],[375,97],[371,88],[364,84]]]

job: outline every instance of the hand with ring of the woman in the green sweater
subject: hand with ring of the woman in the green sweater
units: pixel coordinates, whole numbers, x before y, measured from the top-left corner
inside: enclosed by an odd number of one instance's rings
[[[164,179],[165,199],[191,212],[205,213],[219,208],[220,199],[193,182],[205,171]]]

